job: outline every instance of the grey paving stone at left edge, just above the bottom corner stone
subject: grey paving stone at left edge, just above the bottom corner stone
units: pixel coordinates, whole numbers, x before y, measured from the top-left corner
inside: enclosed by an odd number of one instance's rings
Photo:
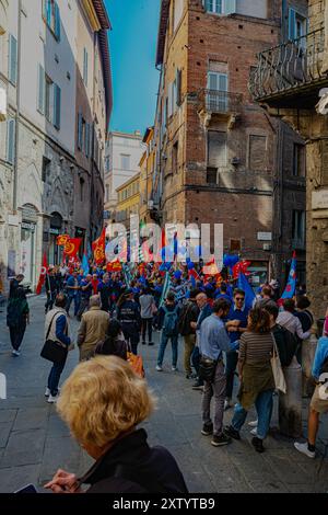
[[[0,468],[40,464],[45,438],[45,430],[16,431],[11,433],[0,461]]]

